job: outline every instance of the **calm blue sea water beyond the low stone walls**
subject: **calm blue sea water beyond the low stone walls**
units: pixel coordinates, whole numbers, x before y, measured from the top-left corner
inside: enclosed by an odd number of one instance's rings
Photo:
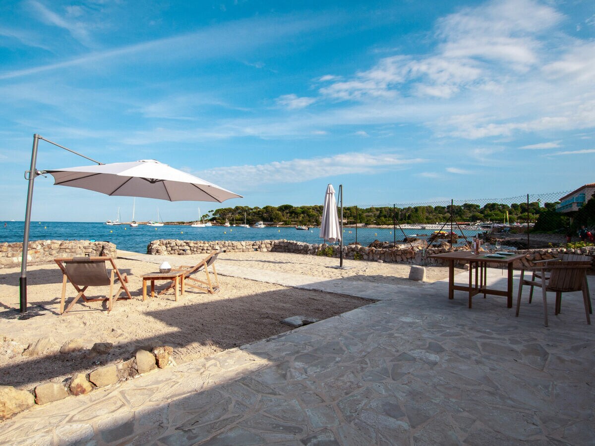
[[[6,227],[4,224],[6,223]],[[24,222],[0,221],[0,242],[23,241]],[[446,230],[446,228],[445,228]],[[139,225],[108,226],[105,223],[34,221],[29,231],[29,240],[95,240],[111,241],[118,249],[146,253],[147,245],[153,240],[172,238],[174,240],[296,240],[307,243],[322,243],[318,237],[320,230],[313,228],[298,231],[295,228],[241,228],[212,226],[192,228],[189,225],[165,225],[151,227]],[[405,234],[431,234],[432,230],[405,230]],[[476,235],[475,231],[465,231],[465,235]],[[392,229],[358,228],[358,242],[364,246],[374,240],[393,241]],[[396,240],[403,240],[403,234],[397,228]],[[343,244],[355,241],[355,228],[345,228]]]

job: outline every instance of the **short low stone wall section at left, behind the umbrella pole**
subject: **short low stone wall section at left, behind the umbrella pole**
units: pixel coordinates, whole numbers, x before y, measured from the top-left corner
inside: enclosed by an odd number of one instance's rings
[[[55,257],[116,257],[115,244],[89,240],[36,240],[29,242],[27,263],[48,262]],[[19,266],[23,243],[0,243],[0,266]]]

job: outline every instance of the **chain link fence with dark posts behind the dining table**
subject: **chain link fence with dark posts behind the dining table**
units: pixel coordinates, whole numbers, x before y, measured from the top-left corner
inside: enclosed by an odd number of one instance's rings
[[[568,238],[578,240],[572,219],[556,211],[569,192],[344,206],[343,244],[386,246],[425,239],[429,244],[460,245],[478,236],[496,248],[561,244]]]

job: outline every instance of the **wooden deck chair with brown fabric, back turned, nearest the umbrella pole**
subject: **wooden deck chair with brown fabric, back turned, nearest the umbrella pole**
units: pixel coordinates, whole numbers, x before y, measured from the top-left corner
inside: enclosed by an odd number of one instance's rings
[[[126,293],[126,297],[120,297],[116,300],[132,299],[130,291],[126,288],[128,277],[126,274],[120,274],[120,271],[118,271],[118,268],[115,266],[114,259],[111,257],[70,257],[54,259],[54,262],[56,262],[62,270],[62,298],[60,300],[61,315],[68,312],[81,297],[85,302],[107,300],[108,313],[112,310],[114,297],[118,296],[122,291]],[[111,263],[111,276],[108,275],[107,268],[105,268],[105,262]],[[113,293],[114,282],[116,280],[120,282],[120,287]],[[64,310],[67,281],[70,281],[79,294],[74,297],[70,304],[68,304],[68,307]],[[84,295],[84,292],[89,287],[102,287],[107,285],[109,285],[108,297],[89,299]]]

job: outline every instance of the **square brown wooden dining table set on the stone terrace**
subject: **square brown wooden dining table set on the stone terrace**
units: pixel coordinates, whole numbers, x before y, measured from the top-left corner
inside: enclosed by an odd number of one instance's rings
[[[515,260],[525,257],[524,254],[515,254],[502,257],[491,257],[490,253],[474,254],[471,251],[455,251],[429,256],[431,259],[447,260],[449,265],[448,275],[448,298],[455,298],[455,290],[466,291],[469,296],[469,308],[471,308],[472,297],[476,294],[492,294],[494,296],[505,296],[506,306],[512,308],[512,264]],[[455,262],[469,263],[469,281],[466,285],[455,284]],[[496,290],[487,286],[487,267],[490,263],[506,265],[508,277],[506,290]]]

